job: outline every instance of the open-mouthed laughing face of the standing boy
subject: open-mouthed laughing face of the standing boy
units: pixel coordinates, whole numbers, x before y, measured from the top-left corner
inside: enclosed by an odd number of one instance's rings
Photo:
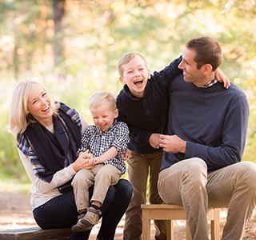
[[[122,85],[127,85],[135,97],[144,97],[146,83],[150,79],[150,70],[145,66],[142,58],[136,56],[124,64],[122,69],[123,77],[119,78]]]

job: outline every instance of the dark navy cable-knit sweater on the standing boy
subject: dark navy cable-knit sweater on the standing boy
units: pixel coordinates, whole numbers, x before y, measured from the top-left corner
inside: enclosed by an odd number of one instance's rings
[[[143,98],[134,97],[128,86],[124,86],[117,97],[118,121],[126,122],[130,129],[128,149],[138,154],[156,151],[150,146],[153,133],[164,133],[168,112],[168,87],[172,79],[182,70],[178,64],[182,57],[175,59],[160,72],[154,72],[148,80]]]

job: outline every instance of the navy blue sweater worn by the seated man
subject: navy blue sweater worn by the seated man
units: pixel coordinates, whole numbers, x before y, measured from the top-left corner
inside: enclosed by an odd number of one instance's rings
[[[168,134],[186,140],[186,154],[164,152],[161,169],[183,159],[202,158],[208,172],[242,161],[249,106],[246,94],[231,83],[198,88],[183,76],[170,85]]]

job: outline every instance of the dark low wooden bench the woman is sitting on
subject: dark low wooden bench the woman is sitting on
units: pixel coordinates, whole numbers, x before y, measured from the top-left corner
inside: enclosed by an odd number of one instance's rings
[[[0,231],[0,240],[66,240],[70,239],[70,228],[42,230],[31,227],[18,230]]]

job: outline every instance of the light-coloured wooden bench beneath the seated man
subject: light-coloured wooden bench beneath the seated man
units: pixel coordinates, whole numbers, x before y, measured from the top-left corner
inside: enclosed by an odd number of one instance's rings
[[[186,220],[183,206],[166,204],[142,204],[142,239],[150,240],[150,220],[167,220],[167,240],[174,240],[173,220]],[[209,208],[207,219],[210,220],[211,240],[220,239],[219,209]],[[191,240],[186,224],[186,240]]]

